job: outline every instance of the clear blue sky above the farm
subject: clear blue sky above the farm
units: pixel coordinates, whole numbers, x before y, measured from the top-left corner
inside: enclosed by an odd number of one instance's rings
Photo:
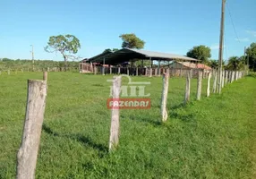
[[[256,1],[227,0],[224,60],[243,55],[256,42]],[[0,58],[63,60],[44,50],[50,36],[80,39],[81,57],[120,48],[135,33],[144,49],[186,55],[194,46],[211,48],[218,59],[221,0],[1,0]]]

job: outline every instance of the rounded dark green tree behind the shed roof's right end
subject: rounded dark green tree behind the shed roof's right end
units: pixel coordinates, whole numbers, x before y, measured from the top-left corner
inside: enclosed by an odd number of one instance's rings
[[[203,64],[208,63],[210,58],[210,48],[206,46],[195,46],[187,52],[187,56],[201,60]]]

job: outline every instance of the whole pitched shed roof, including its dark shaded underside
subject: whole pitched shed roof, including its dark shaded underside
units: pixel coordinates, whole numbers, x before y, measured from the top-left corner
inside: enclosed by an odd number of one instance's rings
[[[89,58],[90,62],[103,63],[105,59],[105,64],[120,64],[123,62],[131,61],[132,59],[151,59],[151,60],[161,60],[161,61],[200,61],[191,57],[175,54],[167,54],[161,52],[153,52],[148,50],[139,50],[132,48],[122,48],[115,52],[109,52],[108,54],[100,54]]]

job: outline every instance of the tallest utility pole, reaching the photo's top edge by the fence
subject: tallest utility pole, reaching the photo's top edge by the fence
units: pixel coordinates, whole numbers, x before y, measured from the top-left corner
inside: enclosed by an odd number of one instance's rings
[[[219,36],[219,52],[218,52],[218,93],[221,93],[221,79],[222,79],[222,60],[223,60],[223,37],[224,37],[224,21],[225,21],[225,4],[226,0],[222,0],[221,5],[221,22],[220,22],[220,36]]]

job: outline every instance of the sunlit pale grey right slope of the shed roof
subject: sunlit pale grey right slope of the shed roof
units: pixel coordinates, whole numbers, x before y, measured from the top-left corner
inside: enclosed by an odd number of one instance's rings
[[[166,59],[180,59],[180,60],[187,60],[187,61],[201,61],[201,60],[197,60],[195,58],[191,58],[183,55],[175,55],[175,54],[169,54],[169,53],[139,50],[139,49],[132,49],[132,48],[126,48],[126,49],[132,50],[133,52],[140,53],[142,55],[146,55],[151,58],[155,57],[155,58],[166,58]]]

